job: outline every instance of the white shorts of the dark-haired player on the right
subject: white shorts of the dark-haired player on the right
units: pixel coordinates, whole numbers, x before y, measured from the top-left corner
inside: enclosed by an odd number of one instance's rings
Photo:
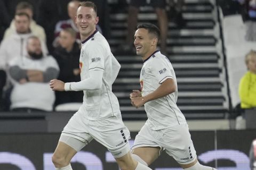
[[[146,122],[136,135],[132,149],[139,147],[164,149],[179,164],[192,163],[197,157],[187,123],[154,131]]]

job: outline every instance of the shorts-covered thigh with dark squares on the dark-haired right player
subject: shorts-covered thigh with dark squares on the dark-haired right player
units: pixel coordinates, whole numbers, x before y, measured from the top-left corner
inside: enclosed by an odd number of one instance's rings
[[[161,140],[168,155],[179,164],[190,164],[196,160],[196,150],[191,140],[188,124],[181,124],[162,131]]]

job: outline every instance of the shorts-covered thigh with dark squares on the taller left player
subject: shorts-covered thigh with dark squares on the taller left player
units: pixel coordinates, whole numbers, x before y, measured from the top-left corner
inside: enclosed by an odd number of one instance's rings
[[[124,125],[121,116],[93,121],[90,124],[92,137],[105,146],[113,157],[121,157],[130,151],[130,131]]]

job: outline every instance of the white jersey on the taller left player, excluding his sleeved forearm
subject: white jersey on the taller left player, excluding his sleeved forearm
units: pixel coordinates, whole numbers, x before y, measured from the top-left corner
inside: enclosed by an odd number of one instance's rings
[[[86,118],[92,121],[121,114],[117,97],[112,92],[112,84],[121,66],[100,32],[95,31],[82,42],[79,65],[81,81],[89,77],[90,70],[103,71],[101,89],[84,90],[83,105],[79,111],[85,111]]]

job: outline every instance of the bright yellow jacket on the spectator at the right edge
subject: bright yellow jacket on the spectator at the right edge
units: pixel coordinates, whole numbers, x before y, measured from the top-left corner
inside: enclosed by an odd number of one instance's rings
[[[248,71],[239,83],[241,108],[256,107],[256,74]]]

